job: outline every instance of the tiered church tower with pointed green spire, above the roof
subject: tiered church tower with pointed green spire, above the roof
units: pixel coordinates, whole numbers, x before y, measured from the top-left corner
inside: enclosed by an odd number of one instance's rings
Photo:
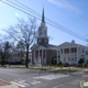
[[[45,26],[44,8],[42,13],[42,23],[38,28],[37,44],[48,44],[47,28]]]

